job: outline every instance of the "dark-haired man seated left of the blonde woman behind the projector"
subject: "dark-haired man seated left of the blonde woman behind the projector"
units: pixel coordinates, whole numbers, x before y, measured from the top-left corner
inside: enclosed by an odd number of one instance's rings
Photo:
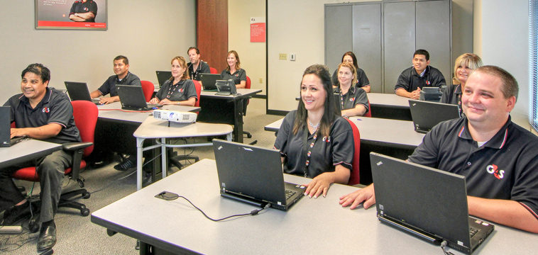
[[[140,79],[129,72],[129,60],[125,56],[119,55],[114,58],[114,73],[115,75],[106,79],[99,89],[90,94],[92,98],[110,94],[109,98],[101,98],[99,103],[108,104],[119,101],[119,96],[116,92],[116,84],[142,86]]]

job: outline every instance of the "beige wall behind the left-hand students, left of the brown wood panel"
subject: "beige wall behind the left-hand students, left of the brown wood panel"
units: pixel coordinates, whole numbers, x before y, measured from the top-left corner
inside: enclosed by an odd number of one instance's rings
[[[21,72],[31,63],[50,69],[50,86],[84,81],[94,90],[114,74],[114,57],[126,55],[129,71],[157,83],[155,71],[169,70],[172,57],[187,57],[196,42],[194,0],[110,0],[105,31],[35,30],[34,2],[0,0],[2,104],[21,93]]]

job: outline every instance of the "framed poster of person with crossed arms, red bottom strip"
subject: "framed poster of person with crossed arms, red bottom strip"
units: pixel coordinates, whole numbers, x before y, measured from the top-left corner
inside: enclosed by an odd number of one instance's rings
[[[106,30],[108,0],[35,0],[35,29]]]

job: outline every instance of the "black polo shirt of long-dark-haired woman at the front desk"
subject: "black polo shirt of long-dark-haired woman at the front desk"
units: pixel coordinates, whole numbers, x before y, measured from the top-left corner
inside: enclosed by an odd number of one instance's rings
[[[308,151],[304,147],[304,137],[308,135],[307,144],[314,141],[314,135],[305,127],[293,134],[293,123],[297,110],[290,111],[282,121],[275,140],[275,149],[285,156],[284,172],[304,176]],[[308,178],[314,178],[324,172],[334,171],[335,166],[341,164],[351,170],[355,145],[353,130],[347,120],[334,116],[329,139],[317,137],[309,158]]]

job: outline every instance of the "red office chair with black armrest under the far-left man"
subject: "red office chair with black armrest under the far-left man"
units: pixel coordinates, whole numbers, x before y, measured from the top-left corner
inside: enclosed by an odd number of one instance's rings
[[[79,198],[87,199],[90,196],[84,189],[84,178],[79,176],[80,169],[86,167],[86,162],[82,157],[87,157],[94,150],[94,133],[95,125],[97,123],[97,116],[99,110],[97,106],[91,101],[72,101],[73,116],[75,117],[75,125],[80,132],[80,138],[82,142],[67,142],[63,144],[62,149],[73,154],[72,167],[65,169],[64,174],[69,176],[70,179],[77,181],[80,189],[75,191],[68,191],[60,195],[60,202],[58,208],[74,208],[80,210],[80,214],[84,217],[89,215],[89,209],[86,205],[76,202]],[[39,181],[39,175],[36,172],[35,166],[26,167],[17,170],[11,177],[13,179],[25,180],[25,181]],[[78,197],[79,196],[79,197]],[[75,198],[76,197],[76,198]],[[39,225],[35,224],[37,215],[31,220],[31,230],[35,232],[39,229]]]

